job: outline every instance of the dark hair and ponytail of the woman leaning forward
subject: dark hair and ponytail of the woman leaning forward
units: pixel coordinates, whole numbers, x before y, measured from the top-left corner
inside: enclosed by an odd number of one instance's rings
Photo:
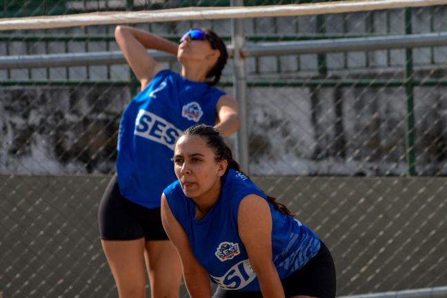
[[[241,172],[241,166],[239,166],[239,163],[233,159],[231,149],[227,146],[224,137],[221,136],[219,130],[216,128],[206,126],[204,124],[195,124],[194,126],[191,126],[185,130],[183,135],[198,135],[205,138],[208,147],[215,152],[216,161],[222,161],[225,159],[228,162],[227,171],[228,169],[232,169]],[[244,174],[244,172],[241,173]],[[245,176],[248,177],[247,175]],[[267,200],[273,205],[275,210],[278,210],[284,215],[295,217],[295,215],[293,215],[284,204],[277,202],[274,197],[270,197],[268,195]]]

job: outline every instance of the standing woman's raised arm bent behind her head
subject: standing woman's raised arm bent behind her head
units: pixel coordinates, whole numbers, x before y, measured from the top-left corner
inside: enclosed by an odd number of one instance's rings
[[[128,26],[115,28],[115,40],[141,83],[141,90],[163,69],[146,49],[161,50],[177,55],[177,44],[155,34]]]

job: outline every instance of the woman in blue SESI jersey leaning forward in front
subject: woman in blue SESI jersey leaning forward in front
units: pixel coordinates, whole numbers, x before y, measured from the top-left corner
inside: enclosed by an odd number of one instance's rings
[[[232,159],[219,131],[197,124],[174,150],[177,181],[161,219],[191,297],[335,297],[328,248]]]

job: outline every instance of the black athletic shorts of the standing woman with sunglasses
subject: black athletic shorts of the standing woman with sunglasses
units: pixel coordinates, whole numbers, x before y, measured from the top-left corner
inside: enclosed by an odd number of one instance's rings
[[[161,197],[161,195],[160,195]],[[168,240],[160,208],[149,209],[129,201],[119,192],[117,177],[108,183],[99,203],[99,234],[103,240]]]

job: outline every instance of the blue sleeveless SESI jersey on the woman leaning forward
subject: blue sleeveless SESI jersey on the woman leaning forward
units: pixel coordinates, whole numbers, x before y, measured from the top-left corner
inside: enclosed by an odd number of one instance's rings
[[[221,178],[221,195],[210,212],[195,219],[195,204],[175,181],[164,190],[170,210],[188,235],[192,252],[212,282],[225,290],[259,291],[244,244],[237,232],[239,203],[247,195],[267,196],[248,177],[228,170]],[[280,279],[302,268],[320,248],[317,236],[290,215],[275,210],[272,215],[272,257]]]

